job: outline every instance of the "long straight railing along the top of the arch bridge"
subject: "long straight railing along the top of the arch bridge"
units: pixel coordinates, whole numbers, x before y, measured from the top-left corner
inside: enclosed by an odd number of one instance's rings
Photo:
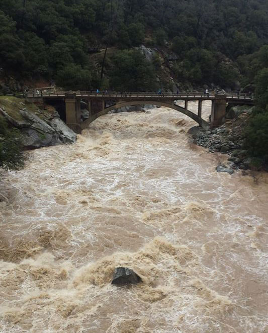
[[[56,91],[56,92],[34,92],[34,93],[24,93],[21,94],[20,97],[26,98],[26,97],[65,97],[65,95],[68,94],[75,94],[78,97],[128,97],[128,98],[204,98],[204,99],[213,99],[216,97],[219,97],[219,94],[215,92],[179,92],[179,93],[172,93],[172,92],[140,92],[140,91],[107,91],[107,92],[95,92],[95,91]],[[220,94],[221,95],[221,94]],[[226,94],[222,94],[222,96],[228,99],[246,99],[246,100],[253,100],[254,95],[252,93],[235,93],[230,92]]]

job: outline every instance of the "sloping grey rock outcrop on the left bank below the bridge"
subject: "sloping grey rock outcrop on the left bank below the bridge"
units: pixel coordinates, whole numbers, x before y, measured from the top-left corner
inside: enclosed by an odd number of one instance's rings
[[[76,134],[59,118],[52,106],[42,110],[35,104],[10,96],[0,97],[0,117],[21,131],[25,149],[74,143]]]

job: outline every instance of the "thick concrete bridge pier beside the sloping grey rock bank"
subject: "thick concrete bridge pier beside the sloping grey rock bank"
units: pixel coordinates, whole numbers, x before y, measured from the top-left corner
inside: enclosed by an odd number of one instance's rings
[[[76,98],[75,93],[65,94],[65,113],[66,113],[66,125],[73,130],[73,132],[81,133],[81,108],[80,99]]]

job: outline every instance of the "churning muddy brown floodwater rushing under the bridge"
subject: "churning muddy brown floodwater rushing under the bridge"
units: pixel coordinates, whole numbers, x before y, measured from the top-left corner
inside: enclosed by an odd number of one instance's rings
[[[1,333],[268,332],[268,178],[217,173],[192,126],[109,114],[4,175]],[[143,283],[111,285],[118,266]]]

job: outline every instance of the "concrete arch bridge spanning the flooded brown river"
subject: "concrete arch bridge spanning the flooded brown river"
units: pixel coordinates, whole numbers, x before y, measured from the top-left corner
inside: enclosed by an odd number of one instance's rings
[[[53,100],[62,100],[65,102],[66,125],[76,133],[81,133],[98,117],[107,114],[109,111],[124,107],[127,105],[153,104],[157,106],[169,107],[192,118],[199,126],[204,129],[218,127],[225,122],[226,107],[228,103],[243,105],[253,104],[252,94],[204,94],[204,93],[152,93],[152,92],[53,92],[38,94],[27,94],[24,96],[27,100],[37,104],[50,103]],[[89,117],[86,121],[81,122],[80,101],[88,103]],[[179,106],[177,100],[184,100],[185,105]],[[211,117],[210,123],[202,118],[202,102],[211,100]],[[188,109],[189,101],[198,101],[197,114]]]

